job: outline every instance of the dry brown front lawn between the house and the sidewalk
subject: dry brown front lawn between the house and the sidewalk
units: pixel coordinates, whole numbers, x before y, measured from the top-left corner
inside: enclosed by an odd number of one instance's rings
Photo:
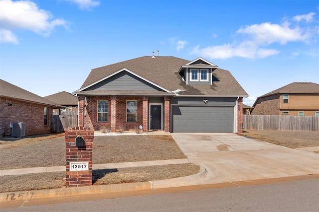
[[[0,141],[0,169],[65,166],[64,134]],[[186,158],[170,135],[97,136],[93,164]]]

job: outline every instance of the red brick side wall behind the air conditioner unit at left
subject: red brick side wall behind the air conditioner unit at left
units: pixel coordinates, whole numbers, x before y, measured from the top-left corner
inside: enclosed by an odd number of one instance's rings
[[[8,106],[8,103],[12,105]],[[48,107],[48,125],[44,126],[44,107],[47,106],[0,98],[0,137],[3,133],[10,133],[12,122],[25,123],[26,136],[51,133],[53,108]]]

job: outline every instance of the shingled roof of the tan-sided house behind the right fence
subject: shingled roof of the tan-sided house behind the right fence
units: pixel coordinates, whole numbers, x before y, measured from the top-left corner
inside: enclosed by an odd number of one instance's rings
[[[285,85],[283,87],[280,87],[276,90],[273,90],[269,93],[266,93],[260,97],[275,95],[279,93],[285,93],[285,94],[292,94],[292,93],[319,93],[319,84],[314,82],[292,82],[288,85]],[[259,98],[260,98],[259,97]]]

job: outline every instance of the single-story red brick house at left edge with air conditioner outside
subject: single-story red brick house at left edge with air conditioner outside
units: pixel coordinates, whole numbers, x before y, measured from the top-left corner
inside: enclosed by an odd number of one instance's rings
[[[0,79],[0,137],[10,135],[10,123],[25,123],[25,135],[51,133],[53,108],[63,108]]]

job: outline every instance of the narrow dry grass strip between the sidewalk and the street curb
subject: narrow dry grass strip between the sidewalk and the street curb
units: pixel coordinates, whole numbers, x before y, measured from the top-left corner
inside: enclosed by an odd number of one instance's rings
[[[199,172],[194,164],[93,170],[94,185],[145,182],[188,176]],[[0,176],[0,192],[65,188],[65,172]]]

